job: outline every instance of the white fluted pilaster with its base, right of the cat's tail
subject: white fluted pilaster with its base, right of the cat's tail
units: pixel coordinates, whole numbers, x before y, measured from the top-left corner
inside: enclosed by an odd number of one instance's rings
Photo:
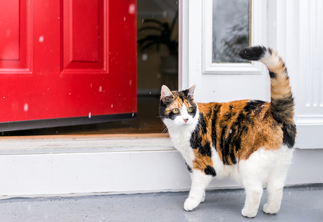
[[[323,1],[286,1],[285,7],[286,63],[296,104],[295,146],[323,148]]]

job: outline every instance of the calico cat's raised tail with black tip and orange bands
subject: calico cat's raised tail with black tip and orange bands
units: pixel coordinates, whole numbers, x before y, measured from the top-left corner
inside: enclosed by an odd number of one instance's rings
[[[239,56],[246,60],[260,61],[269,70],[271,113],[279,124],[283,124],[283,143],[292,148],[296,137],[296,126],[293,120],[294,99],[283,59],[272,49],[261,46],[241,49]]]

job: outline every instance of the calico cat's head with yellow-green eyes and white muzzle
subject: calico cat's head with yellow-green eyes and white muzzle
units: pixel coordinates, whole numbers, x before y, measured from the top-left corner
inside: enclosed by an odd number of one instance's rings
[[[188,90],[171,91],[167,86],[161,87],[159,115],[166,122],[176,125],[190,125],[196,115],[197,106],[193,92],[195,85]]]

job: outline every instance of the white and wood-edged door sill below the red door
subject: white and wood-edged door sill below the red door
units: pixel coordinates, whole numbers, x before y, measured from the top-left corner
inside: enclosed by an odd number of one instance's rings
[[[0,155],[175,150],[165,133],[11,136],[0,141]]]

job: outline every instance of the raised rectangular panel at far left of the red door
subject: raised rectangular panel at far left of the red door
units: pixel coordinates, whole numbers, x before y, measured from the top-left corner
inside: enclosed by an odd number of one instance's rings
[[[30,73],[31,0],[1,3],[0,73]]]

